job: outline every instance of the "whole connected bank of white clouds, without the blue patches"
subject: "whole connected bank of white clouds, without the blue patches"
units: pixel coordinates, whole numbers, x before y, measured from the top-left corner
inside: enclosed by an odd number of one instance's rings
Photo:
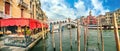
[[[69,7],[65,0],[40,0],[42,9],[50,19],[62,20],[65,18],[73,18],[80,16],[87,16],[89,11],[92,10],[93,15],[104,14],[108,9],[104,9],[102,2],[98,0],[91,0],[93,8],[87,8],[84,0],[75,2],[74,8]],[[87,3],[88,4],[88,3]],[[87,9],[86,9],[87,8]],[[98,13],[99,12],[99,13]]]

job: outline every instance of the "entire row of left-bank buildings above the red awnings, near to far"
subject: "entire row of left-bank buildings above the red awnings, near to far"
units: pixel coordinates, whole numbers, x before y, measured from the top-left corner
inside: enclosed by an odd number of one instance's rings
[[[40,0],[0,0],[0,18],[47,20],[47,16],[41,9]]]

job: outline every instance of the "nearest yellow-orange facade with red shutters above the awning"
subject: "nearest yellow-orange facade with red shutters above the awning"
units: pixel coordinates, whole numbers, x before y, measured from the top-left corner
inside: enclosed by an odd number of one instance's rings
[[[30,18],[29,0],[0,0],[1,18]]]

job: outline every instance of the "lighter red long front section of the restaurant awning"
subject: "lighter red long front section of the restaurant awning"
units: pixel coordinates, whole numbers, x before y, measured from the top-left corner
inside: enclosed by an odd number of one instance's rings
[[[4,26],[29,26],[29,20],[26,18],[1,19],[0,27]]]

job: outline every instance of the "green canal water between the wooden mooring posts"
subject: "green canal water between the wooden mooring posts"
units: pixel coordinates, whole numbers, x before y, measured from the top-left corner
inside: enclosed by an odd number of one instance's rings
[[[77,51],[77,29],[73,28],[72,31],[72,49],[70,48],[70,33],[68,29],[64,29],[62,32],[62,50],[63,51]],[[59,33],[55,34],[55,47],[56,51],[59,51]],[[84,51],[84,28],[81,29],[80,37],[80,50]],[[104,51],[116,51],[114,31],[113,30],[103,30],[104,38]],[[88,37],[88,51],[99,51],[98,49],[98,39],[97,30],[89,29]],[[40,40],[36,46],[31,49],[31,51],[54,51],[52,46],[52,34],[48,33],[45,40]],[[101,51],[101,48],[100,48]]]

